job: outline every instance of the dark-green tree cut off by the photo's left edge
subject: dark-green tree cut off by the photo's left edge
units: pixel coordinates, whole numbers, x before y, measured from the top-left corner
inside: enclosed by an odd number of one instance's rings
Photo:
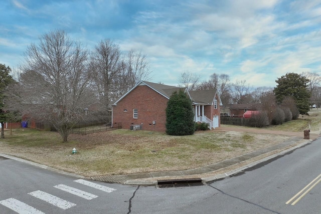
[[[11,68],[6,65],[0,64],[0,122],[1,122],[1,138],[5,138],[5,122],[9,122],[10,120],[10,112],[4,109],[5,102],[5,92],[8,89],[8,86],[11,83],[14,83],[15,80],[12,78],[9,73],[11,72]]]

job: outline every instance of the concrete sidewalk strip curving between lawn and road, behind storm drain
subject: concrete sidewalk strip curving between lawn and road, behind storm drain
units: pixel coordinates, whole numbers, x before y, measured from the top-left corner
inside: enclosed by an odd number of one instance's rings
[[[220,179],[231,174],[240,172],[246,168],[257,165],[261,162],[267,161],[276,156],[285,154],[291,150],[299,148],[307,143],[310,143],[313,137],[309,140],[302,140],[301,137],[293,137],[290,140],[282,143],[262,148],[238,157],[227,159],[218,163],[210,164],[207,166],[181,170],[181,171],[163,171],[163,172],[148,172],[138,174],[123,174],[123,175],[108,175],[108,176],[96,176],[89,177],[92,180],[98,180],[109,183],[123,183],[133,185],[156,185],[158,180],[171,180],[171,179],[191,179],[201,178],[203,182],[209,182],[216,179]],[[267,157],[262,157],[264,154],[268,154]],[[241,162],[249,162],[243,166],[238,166]],[[233,166],[235,166],[233,168]],[[232,169],[231,169],[232,167]],[[217,172],[217,173],[215,173]]]

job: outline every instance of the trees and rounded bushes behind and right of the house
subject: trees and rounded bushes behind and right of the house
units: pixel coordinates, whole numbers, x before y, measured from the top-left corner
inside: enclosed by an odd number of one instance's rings
[[[259,104],[262,110],[260,126],[282,124],[297,119],[299,114],[307,114],[312,104],[321,105],[321,77],[317,73],[287,73],[275,82],[277,86],[253,89],[246,80],[231,82],[227,74],[212,74],[208,80],[200,81],[200,75],[185,72],[179,81],[190,90],[217,89],[223,111],[229,104]]]

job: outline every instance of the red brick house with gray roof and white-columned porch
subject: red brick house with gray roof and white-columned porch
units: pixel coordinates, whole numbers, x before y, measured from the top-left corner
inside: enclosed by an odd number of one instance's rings
[[[184,90],[192,100],[194,121],[207,122],[210,129],[220,126],[221,99],[217,90],[189,91],[186,88],[140,81],[112,105],[112,126],[139,127],[166,131],[167,102],[175,91]]]

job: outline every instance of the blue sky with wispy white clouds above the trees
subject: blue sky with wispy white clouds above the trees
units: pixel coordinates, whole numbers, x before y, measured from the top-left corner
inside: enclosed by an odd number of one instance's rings
[[[286,73],[321,71],[321,0],[2,0],[0,63],[17,70],[52,30],[89,50],[111,39],[141,51],[149,81],[166,85],[190,72],[275,87]]]

